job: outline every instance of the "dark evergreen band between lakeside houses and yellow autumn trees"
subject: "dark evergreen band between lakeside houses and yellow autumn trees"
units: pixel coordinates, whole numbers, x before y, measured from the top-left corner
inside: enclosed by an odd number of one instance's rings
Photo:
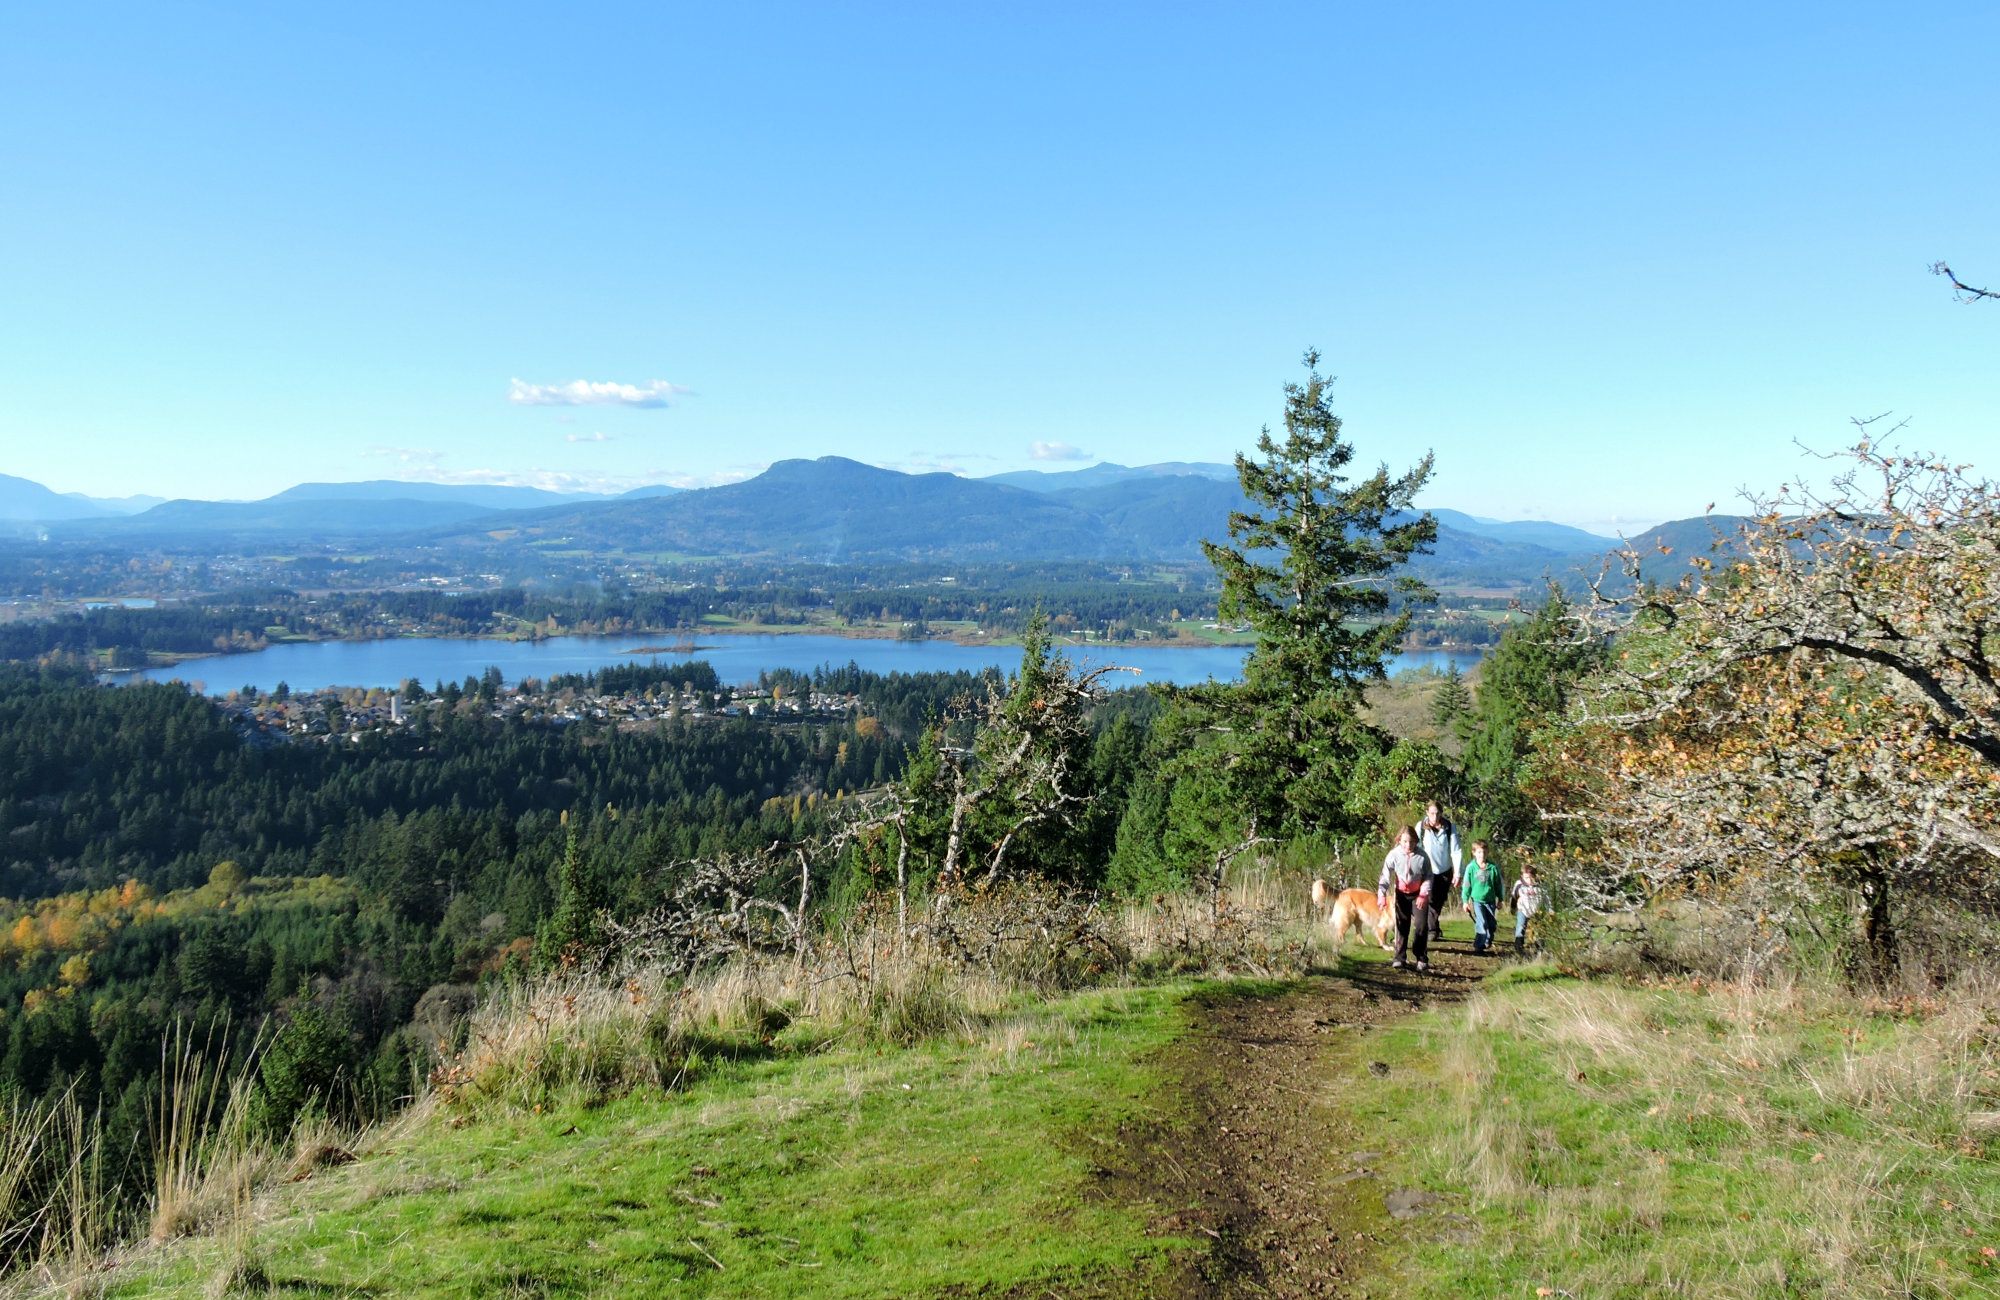
[[[902,694],[918,708],[964,690],[952,674],[928,688],[926,678],[906,682]],[[250,744],[222,710],[178,686],[102,688],[76,670],[0,668],[0,896],[126,878],[184,888],[226,858],[262,876],[352,874],[352,862],[338,860],[346,828],[426,812],[514,822],[566,808],[648,808],[664,848],[692,852],[714,824],[742,822],[730,814],[742,800],[894,776],[906,736],[866,730],[688,722],[626,732],[506,726],[444,710],[354,744],[270,746]],[[634,822],[624,828],[632,834]],[[462,886],[450,874],[426,884],[440,896]],[[422,918],[436,908],[406,910]]]

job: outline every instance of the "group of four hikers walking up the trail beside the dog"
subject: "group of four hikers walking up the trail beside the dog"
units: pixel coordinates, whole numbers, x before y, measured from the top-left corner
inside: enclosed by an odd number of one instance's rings
[[[1492,952],[1500,904],[1514,908],[1514,952],[1520,952],[1528,918],[1542,906],[1542,888],[1534,868],[1522,866],[1514,888],[1506,888],[1500,864],[1488,860],[1486,840],[1472,842],[1472,862],[1458,846],[1458,828],[1438,810],[1436,800],[1424,808],[1424,820],[1396,832],[1396,844],[1382,858],[1382,878],[1376,882],[1376,906],[1396,904],[1396,960],[1402,970],[1416,958],[1418,970],[1430,970],[1430,940],[1444,938],[1442,912],[1458,886],[1460,902],[1472,916],[1472,952]],[[1414,936],[1412,936],[1414,930]]]

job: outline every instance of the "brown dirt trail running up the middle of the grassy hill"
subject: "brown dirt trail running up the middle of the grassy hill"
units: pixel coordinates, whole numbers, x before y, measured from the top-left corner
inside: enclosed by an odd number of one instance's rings
[[[1356,1294],[1356,1262],[1390,1222],[1384,1200],[1410,1184],[1380,1138],[1354,1132],[1338,1080],[1370,1068],[1372,1028],[1462,1000],[1496,960],[1446,940],[1430,974],[1348,962],[1280,996],[1198,996],[1168,1060],[1180,1114],[1124,1134],[1128,1160],[1106,1170],[1112,1194],[1170,1206],[1158,1232],[1212,1240],[1146,1294]]]

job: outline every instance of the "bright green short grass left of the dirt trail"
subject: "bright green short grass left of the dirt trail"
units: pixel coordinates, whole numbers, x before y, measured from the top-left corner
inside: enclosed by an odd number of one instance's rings
[[[978,1040],[714,1066],[676,1094],[450,1112],[280,1194],[248,1240],[140,1256],[108,1294],[200,1294],[254,1260],[272,1294],[1058,1294],[1186,1242],[1090,1192],[1160,1098],[1188,986],[1024,1010]],[[254,1272],[254,1270],[252,1270]],[[1040,1292],[1036,1292],[1040,1294]]]

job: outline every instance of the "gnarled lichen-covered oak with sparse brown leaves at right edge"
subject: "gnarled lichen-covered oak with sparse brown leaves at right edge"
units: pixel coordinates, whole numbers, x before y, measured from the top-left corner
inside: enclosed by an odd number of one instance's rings
[[[1600,600],[1618,652],[1552,738],[1544,798],[1592,826],[1602,882],[1760,912],[1846,898],[1886,970],[1898,894],[2000,886],[2000,494],[1866,438],[1846,456],[1674,586]]]

